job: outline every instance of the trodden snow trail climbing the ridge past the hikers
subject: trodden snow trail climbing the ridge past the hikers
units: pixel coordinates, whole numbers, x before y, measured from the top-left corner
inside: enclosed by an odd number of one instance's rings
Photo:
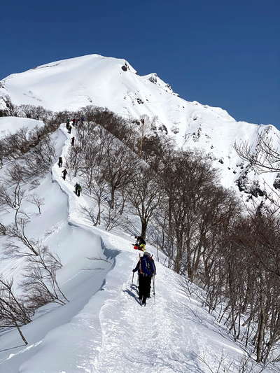
[[[68,153],[70,137],[64,126],[62,131],[67,136],[62,156]],[[74,129],[73,129],[74,132]],[[62,167],[63,168],[63,167]],[[90,229],[102,236],[106,248],[118,251],[113,269],[106,275],[104,283],[104,304],[99,314],[92,313],[92,319],[98,316],[101,336],[94,323],[91,325],[92,338],[77,356],[76,369],[85,372],[205,372],[205,367],[197,360],[200,353],[215,356],[209,346],[215,350],[228,345],[235,358],[241,350],[224,339],[214,330],[209,330],[213,317],[202,310],[203,316],[195,316],[190,310],[186,293],[181,288],[181,276],[157,263],[158,274],[155,278],[155,304],[151,299],[147,307],[141,307],[137,300],[136,286],[130,289],[132,268],[137,264],[138,253],[131,251],[127,239],[116,237],[109,232],[102,232],[89,226],[80,212],[87,205],[86,199],[73,194],[76,181],[62,181],[57,174],[58,167],[52,169],[53,178],[69,197],[69,222]],[[134,283],[137,275],[134,276]],[[100,293],[100,292],[99,292]],[[99,297],[100,294],[94,297]],[[94,298],[93,297],[93,298]],[[94,299],[89,303],[94,302]],[[196,303],[196,301],[193,301]],[[201,312],[200,304],[194,304]],[[207,316],[207,317],[206,317]],[[205,324],[197,325],[198,320],[205,319]],[[93,337],[94,335],[94,337]],[[94,340],[92,340],[94,339]],[[216,342],[215,342],[216,341]],[[79,361],[78,361],[79,360]],[[78,372],[78,370],[76,370]],[[66,372],[76,372],[66,370]]]

